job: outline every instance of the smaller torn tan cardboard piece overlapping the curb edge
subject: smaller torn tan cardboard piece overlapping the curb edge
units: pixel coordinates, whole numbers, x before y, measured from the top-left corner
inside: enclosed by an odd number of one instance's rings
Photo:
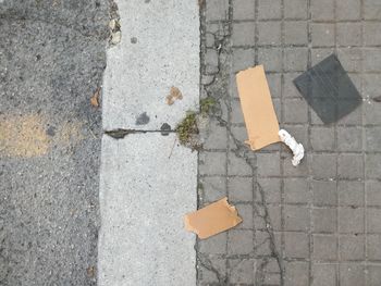
[[[184,217],[185,228],[200,239],[222,233],[241,222],[237,210],[229,204],[226,197]]]

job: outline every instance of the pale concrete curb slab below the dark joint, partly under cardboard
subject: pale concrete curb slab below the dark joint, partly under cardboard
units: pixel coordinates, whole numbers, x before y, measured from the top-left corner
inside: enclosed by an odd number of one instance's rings
[[[99,285],[196,285],[197,153],[175,134],[103,136]]]

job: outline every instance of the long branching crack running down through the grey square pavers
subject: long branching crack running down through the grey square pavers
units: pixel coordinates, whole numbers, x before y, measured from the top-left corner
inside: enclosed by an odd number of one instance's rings
[[[256,172],[257,172],[257,157],[254,153],[254,151],[249,150],[249,148],[244,142],[242,142],[239,139],[236,138],[236,136],[234,135],[234,133],[232,130],[231,122],[230,122],[229,115],[228,115],[228,114],[231,114],[231,112],[232,112],[232,107],[230,104],[230,100],[231,100],[230,91],[228,91],[229,85],[230,85],[229,84],[230,73],[226,72],[226,71],[230,71],[228,60],[230,60],[229,57],[232,53],[231,49],[229,47],[231,33],[225,32],[225,27],[223,24],[220,24],[220,25],[222,25],[222,26],[220,26],[220,28],[214,33],[206,32],[206,34],[211,34],[213,36],[214,49],[218,53],[218,61],[217,61],[218,66],[216,69],[216,71],[217,71],[216,73],[202,73],[202,76],[212,76],[212,79],[210,82],[208,82],[207,84],[201,83],[201,89],[204,88],[204,91],[205,91],[207,97],[211,97],[211,98],[216,99],[216,101],[218,102],[218,107],[216,107],[213,109],[213,112],[211,114],[209,114],[209,117],[211,120],[216,120],[220,126],[225,127],[228,135],[229,135],[229,138],[231,138],[235,145],[235,147],[233,147],[233,148],[228,147],[229,149],[226,149],[226,151],[232,151],[235,154],[235,157],[245,160],[245,162],[251,169],[251,173],[256,174]],[[221,30],[221,28],[223,30]],[[204,38],[202,40],[205,42],[206,39]],[[206,57],[206,50],[210,50],[210,48],[204,48],[202,59],[205,59],[205,57]],[[204,65],[204,70],[205,70],[205,67],[206,66]],[[224,110],[223,110],[223,108],[224,108]],[[225,114],[226,116],[223,116],[224,111],[228,112],[228,114]],[[212,268],[210,260],[208,261],[208,263],[205,262],[205,260],[207,258],[204,254],[202,256],[204,261],[198,259],[198,263],[200,265],[205,266],[206,269],[212,271],[217,275],[219,283],[229,282],[230,276],[231,276],[230,274],[234,269],[239,266],[241,263],[243,263],[247,259],[255,259],[256,260],[255,283],[256,283],[256,285],[262,285],[262,284],[265,284],[266,273],[268,273],[268,271],[266,271],[266,268],[269,265],[269,263],[272,261],[272,259],[275,259],[279,272],[271,272],[271,273],[280,275],[281,285],[284,285],[283,258],[282,258],[282,254],[276,249],[275,236],[274,236],[272,223],[270,220],[268,203],[266,201],[266,194],[265,194],[262,186],[258,182],[255,182],[255,186],[256,186],[256,189],[258,191],[260,202],[253,203],[254,213],[263,220],[265,225],[266,225],[263,231],[267,233],[268,237],[258,245],[255,243],[254,252],[262,245],[268,244],[271,254],[269,257],[265,257],[265,258],[258,257],[255,253],[251,253],[248,256],[247,254],[246,256],[243,256],[243,254],[229,256],[230,259],[236,257],[237,259],[242,259],[242,261],[239,263],[237,263],[234,268],[231,268],[228,271],[229,274],[228,274],[228,277],[225,281],[221,281],[222,275],[219,273],[219,271],[216,268]],[[254,226],[254,232],[256,233],[256,226]],[[197,256],[199,257],[200,253],[197,253]],[[221,284],[221,285],[223,285],[223,284]]]

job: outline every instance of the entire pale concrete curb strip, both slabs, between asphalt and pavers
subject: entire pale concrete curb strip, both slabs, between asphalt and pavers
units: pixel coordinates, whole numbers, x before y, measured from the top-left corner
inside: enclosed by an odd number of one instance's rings
[[[99,285],[196,285],[195,235],[183,216],[197,208],[197,153],[174,129],[199,101],[197,1],[116,1],[122,38],[103,78]],[[183,95],[165,103],[171,87]]]

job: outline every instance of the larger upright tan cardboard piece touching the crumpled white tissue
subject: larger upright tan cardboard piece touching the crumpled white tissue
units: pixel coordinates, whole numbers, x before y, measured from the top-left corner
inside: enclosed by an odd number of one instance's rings
[[[272,105],[263,65],[241,71],[236,75],[241,107],[253,150],[280,141],[279,123]]]

